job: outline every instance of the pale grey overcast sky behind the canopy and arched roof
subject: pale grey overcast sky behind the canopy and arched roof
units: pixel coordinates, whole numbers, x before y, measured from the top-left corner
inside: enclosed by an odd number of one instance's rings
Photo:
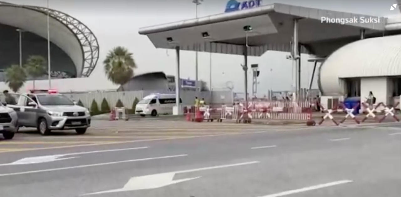
[[[46,0],[4,0],[14,4],[46,6]],[[228,0],[204,0],[198,7],[198,16],[224,12]],[[393,15],[389,7],[395,0],[263,0],[263,4],[284,3],[312,8],[370,14]],[[99,41],[99,62],[87,81],[87,86],[96,89],[97,81],[107,80],[103,59],[114,46],[124,46],[133,54],[138,69],[135,73],[163,71],[175,74],[173,50],[156,49],[147,36],[139,35],[138,29],[168,22],[194,18],[195,5],[192,0],[50,0],[50,7],[74,16],[86,24]],[[395,10],[398,12],[398,10]],[[398,13],[397,13],[398,14]],[[259,64],[259,95],[270,87],[274,90],[290,90],[292,85],[292,62],[286,60],[288,53],[268,51],[261,57],[250,57],[249,63]],[[199,53],[199,78],[209,84],[209,53]],[[307,87],[313,64],[302,56],[302,86]],[[227,54],[212,54],[212,86],[224,88],[232,81],[234,90],[243,91],[243,57]],[[182,78],[195,77],[195,53],[181,52]],[[271,70],[271,71],[270,71]],[[78,80],[78,79],[77,79]],[[251,80],[249,80],[251,82]],[[251,85],[249,85],[251,87]],[[113,88],[107,83],[101,89]],[[316,83],[314,88],[317,88]]]

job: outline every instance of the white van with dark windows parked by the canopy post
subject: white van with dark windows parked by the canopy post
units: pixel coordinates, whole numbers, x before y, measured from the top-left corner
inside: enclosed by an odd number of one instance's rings
[[[136,104],[135,113],[141,116],[172,114],[176,105],[175,94],[150,94]],[[180,99],[180,103],[182,100]]]

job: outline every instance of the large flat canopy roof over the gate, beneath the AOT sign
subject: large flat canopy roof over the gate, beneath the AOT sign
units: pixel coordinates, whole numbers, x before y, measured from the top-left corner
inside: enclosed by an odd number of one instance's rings
[[[322,23],[321,17],[328,18],[380,18],[377,23]],[[352,14],[286,4],[270,4],[241,10],[183,20],[168,24],[140,28],[139,33],[147,35],[156,48],[174,48],[243,54],[245,32],[243,26],[250,25],[248,33],[248,55],[261,56],[267,50],[290,52],[293,35],[293,21],[299,20],[299,42],[301,52],[327,56],[340,46],[358,40],[360,29],[367,36],[385,30],[386,18]],[[209,38],[203,38],[208,32]],[[166,38],[171,37],[173,42]]]

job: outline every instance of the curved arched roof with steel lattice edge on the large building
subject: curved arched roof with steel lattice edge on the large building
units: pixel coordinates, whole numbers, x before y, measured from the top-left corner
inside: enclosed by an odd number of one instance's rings
[[[78,19],[58,10],[0,2],[0,23],[21,28],[50,40],[74,62],[77,77],[91,74],[99,60],[99,44],[93,32]]]

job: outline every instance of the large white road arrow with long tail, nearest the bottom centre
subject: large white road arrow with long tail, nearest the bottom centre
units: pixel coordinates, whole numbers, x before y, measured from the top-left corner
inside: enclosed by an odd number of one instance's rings
[[[134,191],[134,190],[140,190],[140,189],[156,189],[156,188],[164,187],[167,185],[172,185],[172,184],[200,178],[200,177],[192,177],[192,178],[179,179],[179,180],[173,181],[174,175],[178,174],[178,173],[188,173],[188,172],[195,172],[195,171],[219,169],[219,168],[234,167],[234,166],[240,166],[240,165],[249,165],[249,164],[255,164],[255,163],[259,163],[259,161],[235,163],[235,164],[229,164],[229,165],[219,165],[219,166],[213,166],[213,167],[205,167],[205,168],[198,168],[198,169],[190,169],[190,170],[174,171],[174,172],[168,172],[168,173],[145,175],[145,176],[140,176],[140,177],[132,177],[126,183],[126,185],[124,185],[124,187],[122,187],[120,189],[111,189],[111,190],[99,191],[99,192],[95,192],[95,193],[87,193],[87,194],[83,194],[83,195],[113,193],[113,192],[120,192],[120,191]]]

